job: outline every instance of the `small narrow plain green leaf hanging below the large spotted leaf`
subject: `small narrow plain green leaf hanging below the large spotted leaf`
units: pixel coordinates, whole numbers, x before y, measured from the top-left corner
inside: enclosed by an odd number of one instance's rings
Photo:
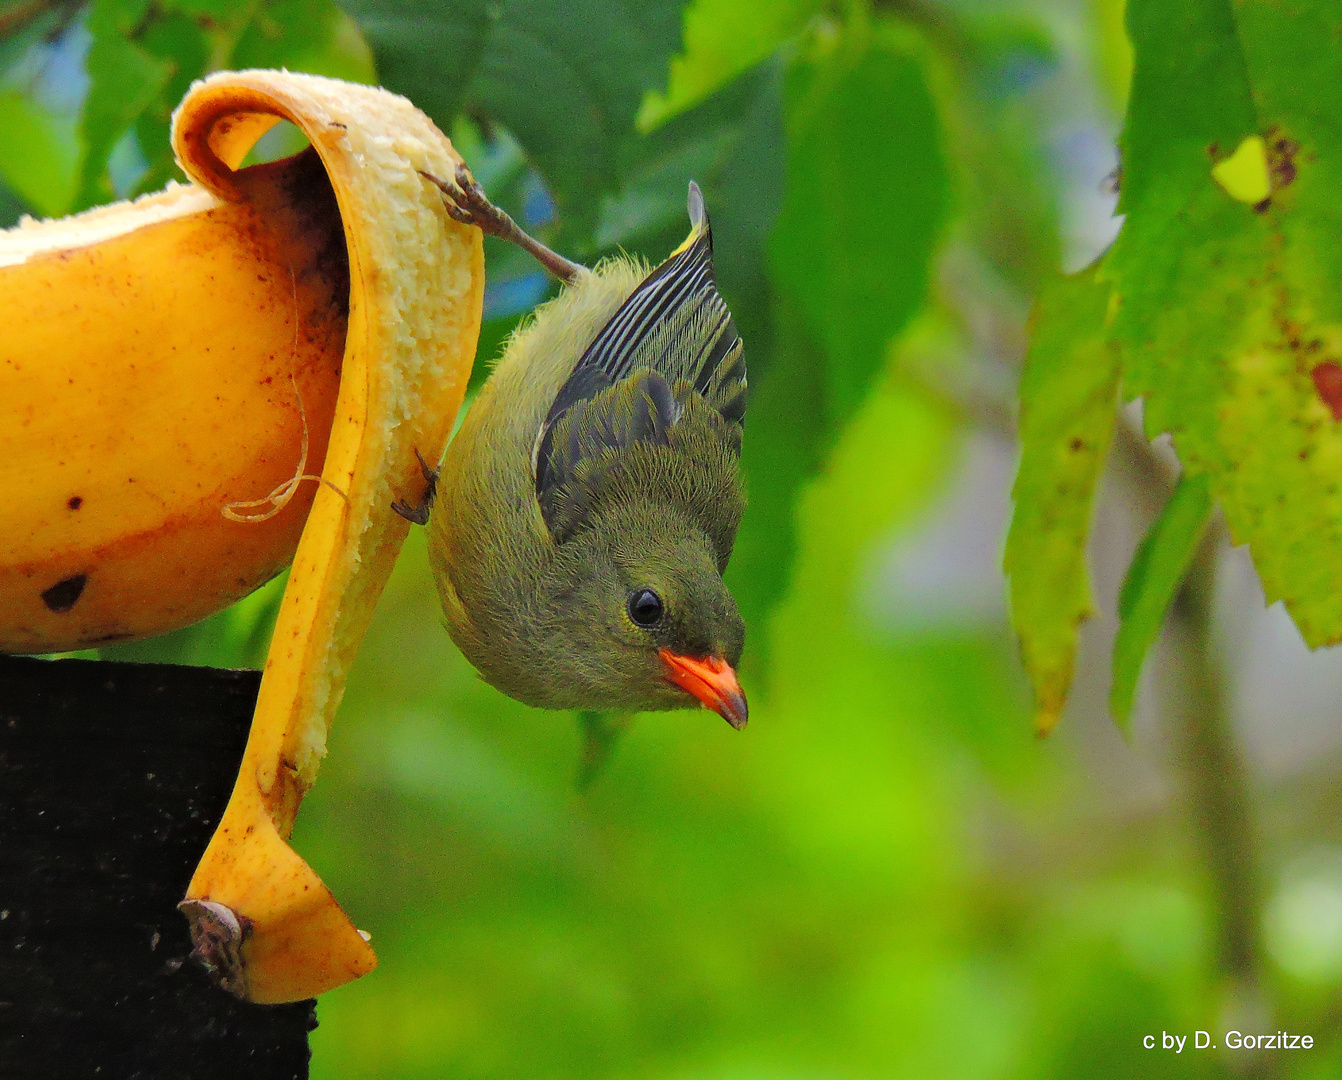
[[[1108,707],[1127,731],[1146,652],[1161,632],[1212,518],[1212,490],[1205,475],[1185,476],[1142,539],[1118,594],[1118,637]]]

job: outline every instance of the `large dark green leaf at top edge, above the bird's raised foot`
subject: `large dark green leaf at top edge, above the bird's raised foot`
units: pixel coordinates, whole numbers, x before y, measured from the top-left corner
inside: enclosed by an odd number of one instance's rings
[[[385,86],[450,126],[467,107],[502,123],[565,216],[589,229],[619,185],[644,93],[680,47],[680,0],[344,0]]]

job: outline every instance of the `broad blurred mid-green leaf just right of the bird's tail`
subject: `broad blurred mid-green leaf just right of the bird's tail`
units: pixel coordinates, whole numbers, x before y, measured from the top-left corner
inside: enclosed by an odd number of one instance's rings
[[[922,66],[892,28],[862,38],[849,31],[789,80],[786,199],[770,248],[774,280],[824,346],[835,428],[922,306],[949,203]]]

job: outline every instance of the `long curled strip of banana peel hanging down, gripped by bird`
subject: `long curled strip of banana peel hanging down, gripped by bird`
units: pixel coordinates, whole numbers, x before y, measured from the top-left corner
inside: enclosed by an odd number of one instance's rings
[[[196,83],[174,117],[178,160],[221,199],[243,199],[232,169],[276,118],[321,156],[345,227],[349,335],[322,476],[348,502],[315,494],[238,781],[187,892],[251,922],[235,985],[262,1002],[311,997],[376,965],[286,839],[409,527],[388,507],[420,495],[415,448],[442,455],[483,299],[479,231],[454,223],[417,176],[450,173],[459,158],[404,98],[309,75],[221,72]]]

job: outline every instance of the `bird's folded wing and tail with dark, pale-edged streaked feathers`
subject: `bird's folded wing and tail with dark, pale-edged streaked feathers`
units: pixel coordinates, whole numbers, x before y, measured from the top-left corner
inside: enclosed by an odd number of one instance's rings
[[[560,494],[585,459],[635,441],[666,441],[686,393],[696,393],[739,429],[746,408],[741,338],[713,278],[713,232],[698,185],[692,228],[597,333],[560,388],[535,441],[535,494],[558,533]]]

